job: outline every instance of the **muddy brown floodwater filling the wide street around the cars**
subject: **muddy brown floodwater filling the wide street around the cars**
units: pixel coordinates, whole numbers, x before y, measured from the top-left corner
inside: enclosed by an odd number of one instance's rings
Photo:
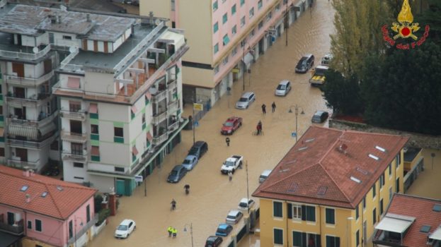
[[[193,132],[183,131],[182,143],[166,157],[161,169],[154,169],[147,178],[147,197],[144,197],[142,185],[131,197],[120,198],[118,215],[110,217],[108,226],[88,246],[191,246],[190,232],[183,231],[184,227],[189,228],[189,224],[193,224],[194,246],[204,245],[207,236],[214,234],[217,224],[224,222],[227,212],[236,209],[239,200],[247,193],[245,169],[237,170],[229,182],[228,177],[220,173],[224,159],[230,155],[244,156],[248,162],[251,195],[258,186],[260,173],[275,167],[295,143],[295,138],[291,137],[295,114],[288,113],[290,106],[298,104],[301,107],[299,112],[304,111],[298,115],[299,135],[311,125],[311,116],[317,109],[326,109],[320,90],[311,88],[308,83],[310,73],[294,73],[294,66],[302,54],[314,54],[316,64],[319,64],[321,56],[329,51],[333,8],[326,0],[316,1],[313,8],[312,14],[308,10],[290,26],[287,47],[283,35],[253,64],[251,78],[246,76],[246,90],[256,92],[256,102],[246,110],[234,109],[243,92],[240,79],[234,83],[231,95],[222,97],[200,121],[195,131],[196,140],[207,141],[209,150],[195,169],[177,184],[166,182],[168,172],[183,160],[193,144]],[[275,97],[275,87],[282,79],[293,82],[292,90],[286,97]],[[272,102],[277,105],[274,113],[270,107]],[[265,115],[260,108],[263,103],[267,105]],[[184,116],[190,113],[190,106],[187,106]],[[229,137],[231,143],[227,147],[219,128],[229,116],[243,117],[244,124]],[[259,120],[263,122],[264,135],[254,136],[252,133]],[[191,186],[189,195],[184,193],[185,183]],[[170,210],[172,198],[177,202],[173,212]],[[128,239],[115,239],[115,227],[122,219],[134,219],[137,230]],[[168,238],[168,226],[178,230],[176,239]],[[227,240],[229,237],[224,239],[222,246],[226,246]],[[254,246],[255,242],[246,236],[241,246]]]

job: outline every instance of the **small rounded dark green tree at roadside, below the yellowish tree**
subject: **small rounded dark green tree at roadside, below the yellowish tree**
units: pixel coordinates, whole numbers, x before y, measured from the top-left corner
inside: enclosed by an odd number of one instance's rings
[[[334,112],[342,114],[360,114],[362,112],[362,99],[360,97],[360,85],[355,76],[345,78],[343,75],[328,69],[325,73],[326,83],[321,91],[326,100],[326,105]]]

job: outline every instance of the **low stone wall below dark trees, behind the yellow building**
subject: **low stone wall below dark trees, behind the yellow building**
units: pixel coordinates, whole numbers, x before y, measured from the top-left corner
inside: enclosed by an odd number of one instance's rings
[[[379,128],[370,126],[365,123],[355,123],[349,121],[342,121],[337,119],[329,119],[330,128],[338,129],[350,129],[355,131],[374,132],[374,133],[387,133],[391,135],[403,135],[408,136],[409,141],[407,143],[410,147],[429,148],[435,150],[441,150],[441,136],[440,135],[424,135],[420,133],[412,133],[406,131],[398,131],[389,128]]]

